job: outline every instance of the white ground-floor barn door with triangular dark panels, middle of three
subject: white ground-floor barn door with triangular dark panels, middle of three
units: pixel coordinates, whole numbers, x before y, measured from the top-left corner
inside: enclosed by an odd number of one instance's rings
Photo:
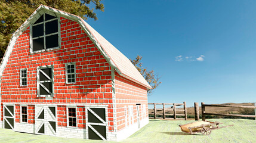
[[[36,106],[36,133],[39,135],[56,135],[56,107]]]

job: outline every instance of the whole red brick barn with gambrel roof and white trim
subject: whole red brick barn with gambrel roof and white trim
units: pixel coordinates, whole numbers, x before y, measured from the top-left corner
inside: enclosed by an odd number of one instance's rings
[[[41,5],[0,67],[1,127],[118,141],[148,123],[150,85],[82,18]]]

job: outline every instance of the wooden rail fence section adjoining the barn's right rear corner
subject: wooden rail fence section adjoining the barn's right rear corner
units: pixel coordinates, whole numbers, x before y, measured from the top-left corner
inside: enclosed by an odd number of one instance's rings
[[[181,119],[181,120],[187,120],[187,107],[186,102],[183,103],[149,103],[149,105],[154,105],[153,109],[149,109],[149,115],[154,115],[154,117],[149,117],[153,119]],[[163,108],[156,108],[156,105],[163,105]],[[165,105],[172,105],[171,108],[165,108]],[[183,109],[176,108],[178,106],[183,105]],[[150,113],[150,111],[153,110],[153,113]],[[162,113],[157,113],[157,111],[162,111]],[[173,111],[173,114],[166,113],[167,111]],[[177,114],[177,111],[184,111],[184,114]],[[156,115],[162,115],[163,117],[156,117]],[[173,118],[169,118],[166,116],[173,116]],[[177,116],[184,116],[184,118],[177,118]]]

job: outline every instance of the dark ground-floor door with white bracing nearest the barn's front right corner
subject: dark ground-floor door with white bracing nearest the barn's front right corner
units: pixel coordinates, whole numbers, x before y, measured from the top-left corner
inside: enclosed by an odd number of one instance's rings
[[[88,138],[106,141],[106,108],[88,107],[87,116]]]

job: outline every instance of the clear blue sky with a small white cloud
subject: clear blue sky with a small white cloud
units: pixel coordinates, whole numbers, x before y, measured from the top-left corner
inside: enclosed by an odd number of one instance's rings
[[[159,73],[149,102],[256,102],[256,1],[103,4],[98,20],[87,22]]]

